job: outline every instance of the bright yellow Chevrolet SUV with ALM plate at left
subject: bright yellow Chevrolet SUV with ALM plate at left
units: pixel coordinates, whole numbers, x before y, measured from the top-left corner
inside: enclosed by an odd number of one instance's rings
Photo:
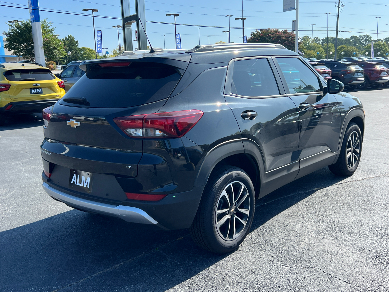
[[[65,94],[64,81],[32,63],[0,64],[0,125],[5,116],[38,113]]]

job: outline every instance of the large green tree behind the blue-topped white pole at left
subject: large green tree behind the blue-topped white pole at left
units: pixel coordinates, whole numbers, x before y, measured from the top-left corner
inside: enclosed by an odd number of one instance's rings
[[[34,45],[32,40],[32,27],[30,21],[22,21],[21,23],[7,23],[8,32],[3,34],[7,38],[8,44],[4,47],[18,56],[23,56],[25,59],[35,61]],[[43,50],[46,61],[56,61],[63,56],[63,44],[61,40],[54,35],[55,27],[52,23],[43,19],[41,21]]]

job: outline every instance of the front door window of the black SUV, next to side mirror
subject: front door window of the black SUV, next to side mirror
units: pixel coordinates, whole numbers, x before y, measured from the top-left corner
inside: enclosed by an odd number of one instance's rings
[[[291,94],[320,91],[319,79],[298,58],[276,58]]]

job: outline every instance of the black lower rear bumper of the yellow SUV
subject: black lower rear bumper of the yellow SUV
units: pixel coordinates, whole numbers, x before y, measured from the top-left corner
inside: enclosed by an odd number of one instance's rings
[[[28,100],[9,102],[4,107],[0,107],[1,114],[27,114],[39,113],[42,109],[52,106],[60,99]],[[5,110],[11,105],[10,109]]]

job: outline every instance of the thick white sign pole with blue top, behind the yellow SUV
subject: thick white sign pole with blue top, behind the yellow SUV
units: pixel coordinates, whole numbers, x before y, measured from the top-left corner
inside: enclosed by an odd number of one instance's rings
[[[35,63],[46,66],[45,52],[43,50],[42,27],[40,26],[38,0],[28,0],[28,11],[32,27],[32,40],[34,42]]]

